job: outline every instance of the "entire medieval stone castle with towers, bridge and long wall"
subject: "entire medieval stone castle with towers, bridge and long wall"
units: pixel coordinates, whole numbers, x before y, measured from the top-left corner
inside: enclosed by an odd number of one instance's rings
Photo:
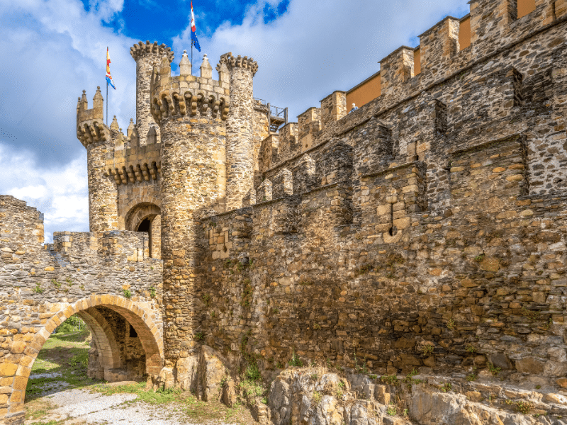
[[[89,374],[203,399],[291,356],[567,387],[567,1],[470,3],[380,61],[380,96],[347,113],[334,91],[297,123],[254,99],[248,57],[213,79],[184,55],[172,76],[169,47],[134,45],[126,134],[100,91],[77,105],[91,232],[42,246],[43,215],[0,196],[0,418],[23,422],[30,367],[72,314]]]

